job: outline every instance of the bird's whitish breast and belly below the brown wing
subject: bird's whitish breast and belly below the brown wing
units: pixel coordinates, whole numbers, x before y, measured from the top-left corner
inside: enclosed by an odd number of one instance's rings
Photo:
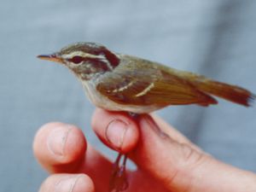
[[[93,84],[83,84],[85,94],[88,96],[90,102],[92,102],[96,107],[103,108],[109,111],[127,111],[132,113],[151,113],[157,109],[159,106],[149,105],[149,106],[136,106],[136,105],[122,105],[113,102],[106,96],[102,96],[95,88]]]

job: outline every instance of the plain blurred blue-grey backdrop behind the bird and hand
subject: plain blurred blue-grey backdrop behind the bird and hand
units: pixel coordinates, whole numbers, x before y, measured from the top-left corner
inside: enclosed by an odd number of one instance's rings
[[[94,107],[66,68],[36,55],[77,41],[256,92],[256,1],[15,1],[0,6],[0,190],[37,191],[47,176],[32,154],[40,125],[79,125],[90,143]],[[219,100],[211,108],[170,107],[160,115],[219,160],[256,172],[255,108]],[[113,153],[110,153],[113,156]]]

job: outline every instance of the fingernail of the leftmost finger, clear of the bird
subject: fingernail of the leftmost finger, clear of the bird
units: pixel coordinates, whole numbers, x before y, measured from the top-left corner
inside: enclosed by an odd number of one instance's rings
[[[64,125],[50,132],[47,144],[51,153],[64,156],[65,143],[71,130],[71,125]]]

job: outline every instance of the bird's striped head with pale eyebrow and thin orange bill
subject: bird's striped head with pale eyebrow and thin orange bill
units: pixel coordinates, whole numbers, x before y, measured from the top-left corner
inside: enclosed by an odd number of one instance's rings
[[[103,45],[95,43],[70,44],[59,52],[51,55],[38,55],[38,58],[59,62],[83,80],[112,71],[119,65],[117,55]]]

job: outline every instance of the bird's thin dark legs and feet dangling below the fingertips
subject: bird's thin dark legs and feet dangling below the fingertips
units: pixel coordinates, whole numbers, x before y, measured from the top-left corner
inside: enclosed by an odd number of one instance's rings
[[[122,158],[123,156],[123,158]],[[120,160],[123,162],[120,164]],[[128,188],[128,182],[125,172],[126,154],[119,153],[113,164],[113,172],[110,178],[109,192],[119,192]]]

